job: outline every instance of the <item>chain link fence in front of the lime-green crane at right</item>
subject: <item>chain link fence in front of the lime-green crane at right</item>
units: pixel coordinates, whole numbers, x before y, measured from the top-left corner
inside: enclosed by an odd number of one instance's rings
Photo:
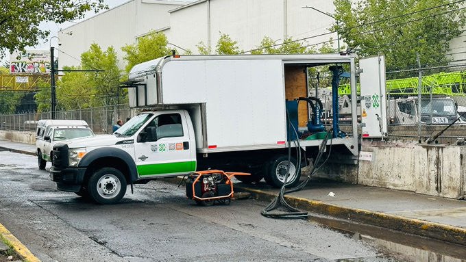
[[[408,71],[417,77],[399,77]],[[441,143],[454,144],[466,136],[466,64],[392,71],[387,79],[390,137],[424,141],[443,131]]]

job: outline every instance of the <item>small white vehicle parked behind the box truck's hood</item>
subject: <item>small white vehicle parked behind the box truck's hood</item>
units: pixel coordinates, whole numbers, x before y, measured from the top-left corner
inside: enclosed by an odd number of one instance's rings
[[[84,120],[39,120],[36,129],[36,155],[39,169],[45,169],[47,161],[51,161],[51,151],[57,142],[93,135],[93,131]]]

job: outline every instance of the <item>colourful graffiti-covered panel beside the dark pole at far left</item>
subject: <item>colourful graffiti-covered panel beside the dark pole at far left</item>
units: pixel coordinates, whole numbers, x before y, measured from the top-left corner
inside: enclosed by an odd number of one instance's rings
[[[32,50],[26,53],[13,53],[10,55],[10,73],[50,73],[50,52]]]

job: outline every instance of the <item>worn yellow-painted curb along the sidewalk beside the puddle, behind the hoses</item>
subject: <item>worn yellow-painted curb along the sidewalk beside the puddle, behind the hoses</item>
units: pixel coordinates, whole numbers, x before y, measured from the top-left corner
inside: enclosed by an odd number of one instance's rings
[[[234,186],[240,191],[252,193],[256,199],[271,201],[277,194],[263,192],[259,189],[251,189],[243,186]],[[377,211],[369,211],[365,209],[354,209],[349,207],[341,207],[338,205],[328,204],[317,200],[309,200],[295,196],[285,196],[285,199],[293,207],[328,215],[332,218],[340,218],[351,222],[369,224],[381,228],[389,228],[395,231],[401,231],[411,235],[429,237],[449,243],[466,245],[466,228],[449,226],[425,220],[417,220],[415,218],[405,218],[400,215],[391,215]]]

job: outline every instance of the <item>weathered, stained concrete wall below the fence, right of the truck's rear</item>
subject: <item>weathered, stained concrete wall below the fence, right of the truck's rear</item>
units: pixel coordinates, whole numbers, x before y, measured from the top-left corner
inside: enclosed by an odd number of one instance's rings
[[[363,140],[358,184],[458,198],[466,194],[465,146]]]

